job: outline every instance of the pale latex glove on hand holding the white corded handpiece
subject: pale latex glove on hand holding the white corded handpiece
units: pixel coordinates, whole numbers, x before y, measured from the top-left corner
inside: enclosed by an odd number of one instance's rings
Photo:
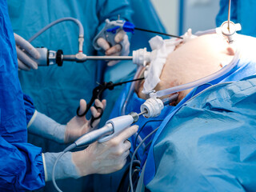
[[[117,137],[107,142],[94,142],[86,150],[72,153],[72,160],[80,176],[88,174],[110,174],[121,170],[130,153],[130,142],[127,140],[138,130],[130,126]]]

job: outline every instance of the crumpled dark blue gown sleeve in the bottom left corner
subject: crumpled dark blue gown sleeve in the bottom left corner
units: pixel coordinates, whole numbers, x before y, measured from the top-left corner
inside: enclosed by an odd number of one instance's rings
[[[42,149],[0,136],[0,191],[36,190],[45,186]]]

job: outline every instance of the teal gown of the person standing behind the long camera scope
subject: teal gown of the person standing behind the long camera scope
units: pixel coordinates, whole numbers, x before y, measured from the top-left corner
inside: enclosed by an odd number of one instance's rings
[[[58,18],[78,18],[85,30],[83,51],[87,55],[97,54],[92,41],[105,25],[106,18],[116,20],[120,15],[120,18],[130,21],[132,14],[127,0],[8,0],[8,6],[14,32],[26,39]],[[45,46],[50,50],[60,49],[64,54],[76,54],[78,26],[73,22],[59,23],[36,38],[32,45]],[[64,62],[62,67],[38,67],[38,70],[20,71],[19,78],[22,90],[33,98],[36,109],[64,124],[76,114],[81,98],[90,101],[96,82],[103,80],[104,68],[105,62]],[[42,146],[44,152],[59,152],[65,148],[31,135],[29,142]],[[58,186],[64,191],[92,191],[93,185],[91,176],[58,181]],[[94,186],[101,188],[98,183]],[[51,182],[46,183],[44,191],[54,191]]]

